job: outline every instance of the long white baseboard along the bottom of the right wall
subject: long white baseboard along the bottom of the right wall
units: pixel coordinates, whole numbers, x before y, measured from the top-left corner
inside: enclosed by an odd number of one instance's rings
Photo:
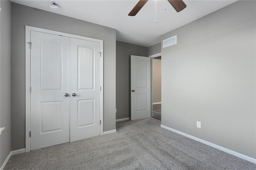
[[[249,157],[249,156],[240,154],[240,153],[235,152],[235,151],[233,151],[233,150],[230,150],[230,149],[224,148],[224,147],[222,147],[222,146],[213,144],[213,143],[208,142],[208,141],[206,141],[206,140],[202,140],[202,139],[197,138],[197,137],[195,137],[195,136],[192,136],[192,135],[190,135],[190,134],[186,134],[186,133],[184,133],[184,132],[180,132],[180,131],[175,130],[175,129],[173,129],[173,128],[166,127],[166,126],[164,126],[164,125],[161,125],[161,127],[162,127],[162,128],[165,128],[165,129],[167,129],[167,130],[170,130],[170,131],[172,131],[172,132],[181,134],[181,135],[183,135],[183,136],[186,136],[186,137],[188,137],[188,138],[194,139],[194,140],[196,140],[196,141],[198,141],[198,142],[201,142],[201,143],[203,143],[203,144],[206,144],[206,145],[208,145],[208,146],[212,146],[213,148],[216,148],[216,149],[218,149],[218,150],[222,150],[223,152],[227,152],[227,153],[229,153],[229,154],[232,154],[232,155],[234,155],[234,156],[237,156],[238,158],[242,158],[242,159],[244,159],[244,160],[248,160],[249,162],[252,162],[252,163],[256,164],[256,159],[251,158],[251,157]]]

